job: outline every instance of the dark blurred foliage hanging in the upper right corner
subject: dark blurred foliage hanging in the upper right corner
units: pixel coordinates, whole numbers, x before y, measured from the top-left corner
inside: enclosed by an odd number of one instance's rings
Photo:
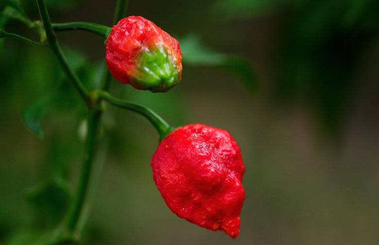
[[[286,13],[274,99],[304,101],[322,132],[340,135],[358,87],[362,55],[378,38],[378,1],[219,0],[212,9],[224,20]]]

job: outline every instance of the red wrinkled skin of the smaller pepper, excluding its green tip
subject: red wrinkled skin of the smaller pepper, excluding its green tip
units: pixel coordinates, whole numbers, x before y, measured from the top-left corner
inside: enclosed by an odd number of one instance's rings
[[[171,35],[157,27],[152,21],[140,16],[130,16],[121,19],[112,28],[106,40],[106,64],[113,77],[121,83],[134,85],[138,58],[142,52],[149,52],[164,47],[170,63],[179,72],[179,81],[182,72],[182,53],[178,41]]]

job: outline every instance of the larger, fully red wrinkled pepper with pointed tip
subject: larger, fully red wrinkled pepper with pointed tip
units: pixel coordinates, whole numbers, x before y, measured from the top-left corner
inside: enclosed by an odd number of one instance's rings
[[[151,166],[158,190],[177,216],[232,238],[239,235],[245,167],[227,131],[199,123],[180,127],[159,144]]]

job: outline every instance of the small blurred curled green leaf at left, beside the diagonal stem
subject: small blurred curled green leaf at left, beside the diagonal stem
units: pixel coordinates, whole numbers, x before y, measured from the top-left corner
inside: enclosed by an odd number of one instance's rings
[[[47,95],[22,110],[22,121],[25,126],[42,140],[45,138],[45,133],[40,121],[49,111],[51,102],[52,96]]]

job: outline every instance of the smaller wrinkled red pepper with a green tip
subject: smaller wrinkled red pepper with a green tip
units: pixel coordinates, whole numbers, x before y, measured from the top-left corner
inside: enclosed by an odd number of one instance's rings
[[[140,16],[123,18],[112,28],[105,60],[114,78],[137,89],[166,92],[182,76],[178,41]]]

